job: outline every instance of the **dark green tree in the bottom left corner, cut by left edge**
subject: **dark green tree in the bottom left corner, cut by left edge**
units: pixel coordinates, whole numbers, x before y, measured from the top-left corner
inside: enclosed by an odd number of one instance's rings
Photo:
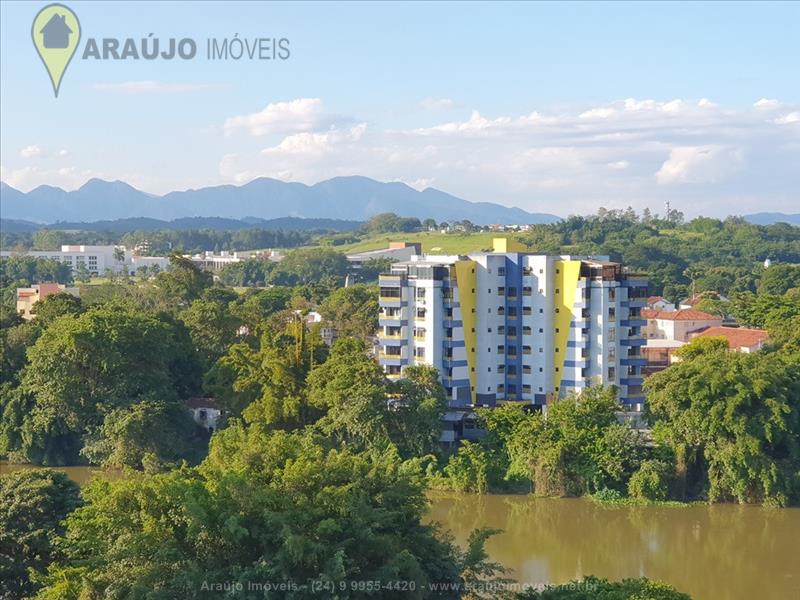
[[[28,569],[44,572],[61,558],[61,522],[80,504],[77,484],[52,469],[0,475],[0,597],[36,591]]]

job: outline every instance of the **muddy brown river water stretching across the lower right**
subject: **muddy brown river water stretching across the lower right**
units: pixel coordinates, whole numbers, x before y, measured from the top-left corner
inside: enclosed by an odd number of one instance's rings
[[[431,494],[430,519],[532,584],[647,576],[694,600],[800,600],[800,509],[602,506],[583,499]]]

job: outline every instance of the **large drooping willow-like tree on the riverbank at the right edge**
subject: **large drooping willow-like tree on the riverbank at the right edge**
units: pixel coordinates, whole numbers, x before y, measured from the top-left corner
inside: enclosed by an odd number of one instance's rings
[[[778,353],[692,353],[645,382],[657,442],[688,495],[800,501],[800,371]]]

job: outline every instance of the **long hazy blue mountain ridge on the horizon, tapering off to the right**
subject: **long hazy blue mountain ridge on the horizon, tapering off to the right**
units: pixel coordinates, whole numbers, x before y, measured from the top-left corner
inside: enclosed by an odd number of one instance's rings
[[[24,193],[0,183],[0,216],[38,223],[141,217],[170,221],[187,217],[366,221],[383,212],[436,221],[466,219],[481,225],[560,220],[552,214],[469,202],[434,188],[418,191],[404,183],[358,176],[335,177],[311,186],[262,177],[242,186],[220,185],[163,196],[142,192],[123,181],[101,179],[90,179],[72,192],[42,185]]]

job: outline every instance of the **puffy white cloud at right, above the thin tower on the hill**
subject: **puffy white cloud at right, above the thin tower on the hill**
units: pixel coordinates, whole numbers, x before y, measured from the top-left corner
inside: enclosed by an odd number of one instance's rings
[[[728,177],[742,162],[741,152],[724,146],[673,148],[656,173],[659,185],[713,183]]]

